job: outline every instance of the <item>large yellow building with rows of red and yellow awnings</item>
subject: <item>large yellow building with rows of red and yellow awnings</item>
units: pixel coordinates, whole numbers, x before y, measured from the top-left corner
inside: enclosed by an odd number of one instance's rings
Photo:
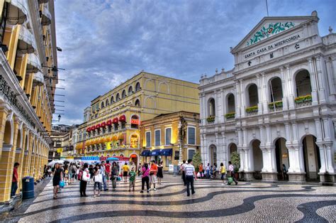
[[[97,97],[91,101],[89,112],[84,112],[85,155],[125,156],[138,162],[142,121],[182,110],[198,113],[197,87],[191,82],[140,72]]]

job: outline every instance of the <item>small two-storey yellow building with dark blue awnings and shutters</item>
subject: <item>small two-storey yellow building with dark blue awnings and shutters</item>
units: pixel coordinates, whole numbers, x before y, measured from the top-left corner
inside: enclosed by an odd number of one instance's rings
[[[142,121],[140,162],[163,161],[164,170],[200,153],[199,114],[174,112]]]

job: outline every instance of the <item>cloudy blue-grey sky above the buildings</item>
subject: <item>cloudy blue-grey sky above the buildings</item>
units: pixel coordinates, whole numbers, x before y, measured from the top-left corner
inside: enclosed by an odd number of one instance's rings
[[[336,30],[335,0],[268,0],[269,16],[318,11],[321,36]],[[267,16],[265,0],[56,0],[60,122],[82,124],[92,99],[141,70],[199,82],[233,68],[235,47]],[[57,119],[58,114],[54,114]]]

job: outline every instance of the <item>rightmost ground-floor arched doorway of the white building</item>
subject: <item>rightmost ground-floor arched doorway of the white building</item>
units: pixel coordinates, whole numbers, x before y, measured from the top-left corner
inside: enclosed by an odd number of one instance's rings
[[[316,137],[312,135],[305,136],[302,140],[303,161],[307,181],[319,181],[318,172],[321,168],[320,149],[316,145]]]

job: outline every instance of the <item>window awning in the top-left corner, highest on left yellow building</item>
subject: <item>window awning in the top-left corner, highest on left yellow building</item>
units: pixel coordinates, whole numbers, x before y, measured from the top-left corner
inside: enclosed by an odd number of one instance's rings
[[[28,4],[26,0],[6,0],[9,3],[9,14],[6,23],[9,25],[23,24],[28,18]]]

